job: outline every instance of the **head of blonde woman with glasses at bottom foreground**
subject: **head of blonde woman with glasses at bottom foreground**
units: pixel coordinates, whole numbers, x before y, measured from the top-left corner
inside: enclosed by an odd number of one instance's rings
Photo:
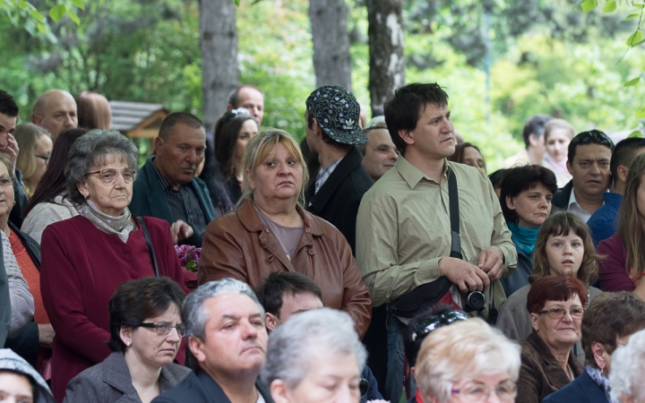
[[[428,334],[415,366],[426,403],[513,402],[519,372],[520,346],[477,318]]]

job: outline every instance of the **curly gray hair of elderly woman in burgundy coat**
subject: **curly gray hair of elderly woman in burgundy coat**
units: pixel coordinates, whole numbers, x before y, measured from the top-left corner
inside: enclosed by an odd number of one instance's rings
[[[116,130],[90,130],[74,141],[64,172],[67,194],[73,202],[85,202],[77,185],[83,182],[85,174],[93,167],[98,167],[111,154],[124,156],[130,169],[137,168],[139,150],[132,140]]]

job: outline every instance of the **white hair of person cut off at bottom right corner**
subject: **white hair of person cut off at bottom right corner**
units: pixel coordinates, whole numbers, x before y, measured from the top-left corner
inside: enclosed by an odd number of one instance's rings
[[[632,334],[624,347],[616,348],[612,354],[612,369],[609,372],[612,401],[622,401],[621,394],[633,401],[643,401],[645,386],[642,373],[645,372],[645,330]]]

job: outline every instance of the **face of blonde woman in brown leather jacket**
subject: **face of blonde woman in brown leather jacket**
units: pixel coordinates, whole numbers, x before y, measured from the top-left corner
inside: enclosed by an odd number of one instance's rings
[[[302,177],[303,166],[281,143],[253,173],[246,171],[249,185],[254,189],[254,201],[265,204],[288,199],[296,203],[303,186]]]

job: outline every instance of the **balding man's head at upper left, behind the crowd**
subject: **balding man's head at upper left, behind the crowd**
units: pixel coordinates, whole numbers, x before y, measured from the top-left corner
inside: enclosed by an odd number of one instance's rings
[[[31,121],[46,128],[56,141],[58,134],[78,126],[76,101],[64,90],[48,90],[31,109]]]

